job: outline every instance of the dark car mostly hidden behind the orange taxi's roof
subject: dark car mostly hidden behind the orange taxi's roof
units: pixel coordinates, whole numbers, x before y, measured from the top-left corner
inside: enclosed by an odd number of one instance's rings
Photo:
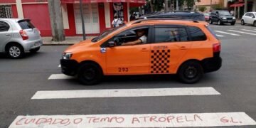
[[[140,19],[146,18],[182,18],[195,21],[206,21],[203,14],[194,11],[173,11],[173,12],[159,12],[147,16],[141,16]]]

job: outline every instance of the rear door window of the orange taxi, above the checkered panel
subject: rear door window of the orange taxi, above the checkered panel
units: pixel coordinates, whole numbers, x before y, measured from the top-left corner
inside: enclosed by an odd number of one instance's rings
[[[186,28],[159,27],[155,28],[155,43],[188,41]]]

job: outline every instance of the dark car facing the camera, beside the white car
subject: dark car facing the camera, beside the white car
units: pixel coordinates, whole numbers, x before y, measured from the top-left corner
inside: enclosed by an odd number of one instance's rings
[[[235,17],[232,16],[226,10],[214,10],[210,13],[210,24],[218,23],[218,25],[223,25],[223,23],[230,23],[232,26],[235,25]]]

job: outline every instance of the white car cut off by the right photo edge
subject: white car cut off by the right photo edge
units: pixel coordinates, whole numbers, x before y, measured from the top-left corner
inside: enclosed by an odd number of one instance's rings
[[[251,24],[253,26],[256,26],[256,12],[247,12],[242,16],[241,19],[242,26],[245,24]]]

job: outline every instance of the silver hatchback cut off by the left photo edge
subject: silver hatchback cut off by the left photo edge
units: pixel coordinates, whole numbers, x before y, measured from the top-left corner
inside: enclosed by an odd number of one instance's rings
[[[21,58],[28,51],[36,53],[42,45],[40,31],[30,19],[0,18],[0,53]]]

